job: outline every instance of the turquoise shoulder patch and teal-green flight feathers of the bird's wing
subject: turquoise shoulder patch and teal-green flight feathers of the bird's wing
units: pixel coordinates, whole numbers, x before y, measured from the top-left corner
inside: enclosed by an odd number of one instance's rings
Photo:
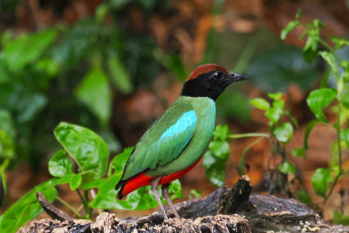
[[[143,146],[133,161],[140,170],[164,165],[176,158],[193,135],[197,117],[193,110],[185,112],[157,141]],[[141,156],[142,155],[142,156]]]

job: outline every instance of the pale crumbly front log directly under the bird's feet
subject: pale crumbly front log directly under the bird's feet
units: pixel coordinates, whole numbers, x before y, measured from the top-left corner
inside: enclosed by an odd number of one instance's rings
[[[71,219],[63,222],[52,219],[32,221],[27,226],[20,228],[17,233],[45,232],[45,233],[165,233],[165,232],[229,232],[251,233],[248,222],[243,217],[235,215],[207,216],[192,219],[169,219],[160,225],[149,226],[144,224],[140,228],[137,224],[125,224],[115,218],[113,213],[100,214],[95,222],[84,219]]]

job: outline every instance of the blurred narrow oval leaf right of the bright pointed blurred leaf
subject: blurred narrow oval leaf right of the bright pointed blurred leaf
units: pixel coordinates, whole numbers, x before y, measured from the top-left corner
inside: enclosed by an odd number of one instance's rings
[[[130,93],[133,90],[131,75],[126,70],[121,59],[113,51],[108,53],[107,68],[112,84],[122,93]]]

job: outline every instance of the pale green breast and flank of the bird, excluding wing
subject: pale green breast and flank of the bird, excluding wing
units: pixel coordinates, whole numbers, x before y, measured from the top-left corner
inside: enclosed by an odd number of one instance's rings
[[[216,119],[216,105],[212,99],[181,96],[176,104],[185,105],[186,109],[192,109],[195,112],[197,119],[194,132],[176,158],[164,165],[157,165],[154,169],[148,169],[146,171],[148,176],[170,175],[190,167],[201,158],[212,138]]]

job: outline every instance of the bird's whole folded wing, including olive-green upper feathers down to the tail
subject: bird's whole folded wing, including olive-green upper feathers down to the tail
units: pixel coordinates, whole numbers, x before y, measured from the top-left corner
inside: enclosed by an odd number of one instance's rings
[[[166,110],[144,133],[128,158],[121,180],[127,180],[147,168],[164,165],[184,149],[193,135],[197,117],[190,110],[182,111],[183,114],[178,118],[176,110]]]

